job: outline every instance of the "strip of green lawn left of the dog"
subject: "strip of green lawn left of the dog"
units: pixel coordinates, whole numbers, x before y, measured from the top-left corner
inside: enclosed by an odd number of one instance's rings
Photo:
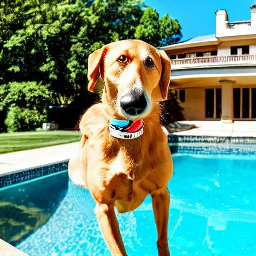
[[[0,134],[0,154],[76,142],[78,131],[28,131]]]

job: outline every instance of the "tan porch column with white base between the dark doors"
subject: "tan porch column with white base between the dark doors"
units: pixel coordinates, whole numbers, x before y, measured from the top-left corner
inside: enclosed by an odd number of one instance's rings
[[[233,83],[222,84],[221,122],[232,123]]]

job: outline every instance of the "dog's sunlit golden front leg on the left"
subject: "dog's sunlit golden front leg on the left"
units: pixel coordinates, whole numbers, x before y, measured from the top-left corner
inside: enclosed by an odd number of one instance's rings
[[[122,241],[114,204],[97,203],[95,213],[99,228],[113,256],[127,256]]]

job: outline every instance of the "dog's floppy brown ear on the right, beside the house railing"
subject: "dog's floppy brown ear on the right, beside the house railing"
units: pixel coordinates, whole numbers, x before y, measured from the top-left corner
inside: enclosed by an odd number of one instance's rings
[[[170,59],[164,50],[159,50],[159,53],[162,63],[160,89],[162,99],[165,100],[168,95],[168,88],[170,84]]]

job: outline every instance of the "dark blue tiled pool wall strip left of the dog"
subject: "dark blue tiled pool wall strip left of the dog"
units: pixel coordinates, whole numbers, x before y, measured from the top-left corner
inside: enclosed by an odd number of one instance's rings
[[[0,176],[0,188],[67,170],[68,161]]]

